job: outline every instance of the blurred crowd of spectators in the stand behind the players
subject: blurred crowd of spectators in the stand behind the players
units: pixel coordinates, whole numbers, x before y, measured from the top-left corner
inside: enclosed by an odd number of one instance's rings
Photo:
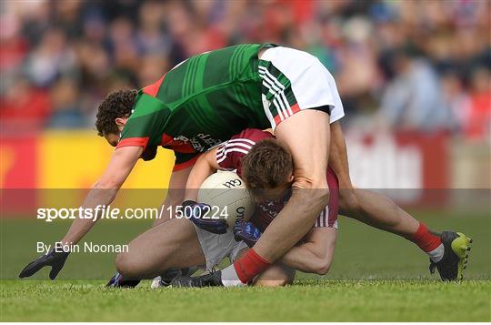
[[[490,135],[487,0],[0,5],[4,132],[92,127],[97,104],[112,90],[151,84],[188,56],[271,42],[304,49],[326,65],[346,123]]]

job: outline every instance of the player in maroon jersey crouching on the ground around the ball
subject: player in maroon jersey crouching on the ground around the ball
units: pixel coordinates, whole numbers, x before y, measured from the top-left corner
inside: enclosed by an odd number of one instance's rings
[[[256,142],[259,143],[255,145]],[[254,188],[269,187],[257,196],[267,201],[257,204],[252,221],[243,223],[237,220],[234,232],[231,229],[227,231],[225,220],[199,218],[189,218],[195,223],[195,229],[190,227],[192,224],[188,219],[176,218],[149,229],[130,243],[127,253],[118,255],[116,268],[120,275],[112,279],[111,286],[132,286],[132,279],[148,279],[155,275],[163,275],[161,283],[167,285],[170,282],[168,269],[195,265],[213,269],[225,257],[234,262],[247,246],[254,246],[286,204],[293,181],[293,159],[286,145],[276,141],[271,133],[246,129],[197,159],[188,178],[184,205],[195,205],[195,201],[190,201],[195,200],[193,189],[199,188],[205,178],[217,170],[234,169]],[[256,284],[278,286],[291,283],[295,269],[326,274],[337,238],[338,185],[332,170],[327,172],[327,183],[331,191],[328,206],[306,237],[290,249],[279,263],[256,277]],[[148,249],[148,243],[151,243],[151,249]],[[172,272],[174,275],[175,272]]]

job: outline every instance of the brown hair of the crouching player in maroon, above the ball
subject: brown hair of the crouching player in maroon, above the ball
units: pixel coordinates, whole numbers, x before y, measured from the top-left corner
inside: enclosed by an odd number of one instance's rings
[[[293,157],[285,143],[266,138],[254,145],[242,160],[242,178],[253,194],[277,188],[288,182],[293,172]]]

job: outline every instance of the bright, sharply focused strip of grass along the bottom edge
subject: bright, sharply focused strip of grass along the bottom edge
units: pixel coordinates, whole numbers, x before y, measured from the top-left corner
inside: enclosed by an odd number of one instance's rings
[[[105,289],[5,281],[2,321],[490,321],[491,281],[303,281],[280,288]]]

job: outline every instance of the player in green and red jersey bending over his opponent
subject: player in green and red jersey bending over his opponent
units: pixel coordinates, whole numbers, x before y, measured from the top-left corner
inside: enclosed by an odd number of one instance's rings
[[[272,127],[294,159],[292,196],[254,248],[212,274],[208,284],[246,285],[307,234],[329,201],[328,163],[339,178],[340,208],[346,216],[414,239],[427,250],[442,279],[461,279],[470,239],[456,232],[436,236],[390,199],[352,187],[338,121],[343,116],[333,76],[306,52],[266,44],[192,56],[153,85],[105,98],[96,127],[116,149],[83,208],[109,205],[137,159],[152,157],[157,146],[175,150],[172,190],[185,187],[199,153],[247,127]],[[183,199],[171,194],[165,205],[179,205]],[[77,243],[93,225],[90,219],[76,219],[62,241]],[[49,265],[54,279],[68,253],[52,251],[20,276]]]

